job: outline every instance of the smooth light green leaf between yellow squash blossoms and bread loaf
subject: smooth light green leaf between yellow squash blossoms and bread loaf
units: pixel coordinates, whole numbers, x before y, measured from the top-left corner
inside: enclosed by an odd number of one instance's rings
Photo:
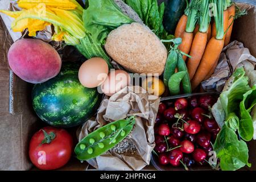
[[[105,44],[110,31],[134,22],[123,14],[113,0],[88,0],[88,3],[89,7],[83,14],[84,27],[92,34],[93,42],[97,45]]]

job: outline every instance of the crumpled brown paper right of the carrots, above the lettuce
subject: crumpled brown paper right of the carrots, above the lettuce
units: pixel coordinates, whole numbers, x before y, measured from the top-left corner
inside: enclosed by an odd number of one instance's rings
[[[235,40],[223,49],[213,75],[201,83],[203,89],[207,92],[213,90],[221,92],[228,78],[237,67],[241,67],[241,64],[250,65],[249,67],[254,69],[256,59],[250,54],[249,49]]]

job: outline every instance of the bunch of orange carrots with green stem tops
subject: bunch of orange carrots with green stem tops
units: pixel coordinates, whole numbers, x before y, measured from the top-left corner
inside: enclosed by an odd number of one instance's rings
[[[230,42],[235,15],[232,0],[192,0],[187,5],[175,36],[182,38],[180,51],[191,56],[183,59],[193,90],[213,74],[222,49]]]

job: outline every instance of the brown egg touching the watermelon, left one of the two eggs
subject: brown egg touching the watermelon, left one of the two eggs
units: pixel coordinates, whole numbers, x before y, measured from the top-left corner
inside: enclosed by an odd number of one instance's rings
[[[108,77],[109,67],[101,57],[85,61],[79,68],[79,81],[86,88],[100,86]]]

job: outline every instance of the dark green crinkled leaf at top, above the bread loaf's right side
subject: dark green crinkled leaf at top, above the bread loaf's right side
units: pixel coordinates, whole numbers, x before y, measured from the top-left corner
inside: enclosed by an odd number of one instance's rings
[[[157,35],[160,39],[166,38],[166,31],[163,27],[164,3],[158,6],[157,0],[125,0],[143,20],[146,26]]]

